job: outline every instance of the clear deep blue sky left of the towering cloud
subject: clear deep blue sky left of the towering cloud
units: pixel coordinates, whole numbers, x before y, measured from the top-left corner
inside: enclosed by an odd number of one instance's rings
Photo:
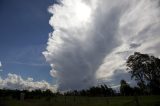
[[[42,51],[46,48],[54,0],[0,0],[1,77],[15,73],[24,78],[53,82]]]

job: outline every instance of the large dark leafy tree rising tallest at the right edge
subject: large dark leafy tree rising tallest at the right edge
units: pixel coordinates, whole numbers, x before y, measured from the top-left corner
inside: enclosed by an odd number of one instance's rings
[[[135,52],[129,56],[127,67],[131,78],[135,78],[141,89],[149,89],[152,93],[160,93],[160,59],[148,54]]]

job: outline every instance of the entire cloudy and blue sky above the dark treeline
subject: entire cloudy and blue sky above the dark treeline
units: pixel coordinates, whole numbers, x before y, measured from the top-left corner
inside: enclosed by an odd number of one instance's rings
[[[1,0],[0,13],[0,88],[134,85],[127,57],[160,57],[160,0]]]

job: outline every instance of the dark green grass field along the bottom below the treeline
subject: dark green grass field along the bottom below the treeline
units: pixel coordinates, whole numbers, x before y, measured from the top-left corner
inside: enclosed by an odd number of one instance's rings
[[[0,106],[160,106],[160,96],[126,97],[53,97],[0,101]]]

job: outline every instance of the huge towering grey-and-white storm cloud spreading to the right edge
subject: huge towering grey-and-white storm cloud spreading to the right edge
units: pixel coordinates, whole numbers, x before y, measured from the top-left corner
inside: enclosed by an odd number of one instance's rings
[[[117,70],[127,77],[125,61],[134,51],[159,56],[158,4],[159,0],[62,0],[50,6],[54,31],[43,54],[58,88],[109,82],[118,76]]]

